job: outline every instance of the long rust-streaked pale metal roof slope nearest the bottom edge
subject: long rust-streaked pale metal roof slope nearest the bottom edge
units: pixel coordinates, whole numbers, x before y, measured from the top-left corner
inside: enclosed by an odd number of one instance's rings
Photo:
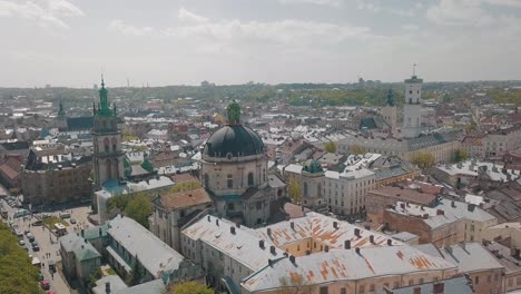
[[[267,291],[281,286],[281,280],[304,278],[307,284],[374,278],[426,271],[456,270],[452,263],[424,254],[411,246],[389,246],[316,253],[275,262],[242,283],[247,291]]]

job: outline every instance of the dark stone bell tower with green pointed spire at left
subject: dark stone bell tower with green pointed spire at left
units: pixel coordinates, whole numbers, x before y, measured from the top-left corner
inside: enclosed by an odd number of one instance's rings
[[[125,171],[125,153],[121,150],[122,137],[118,128],[116,104],[112,104],[112,107],[109,106],[108,90],[105,88],[102,77],[99,102],[92,105],[92,111],[94,183],[96,189],[99,189],[109,180],[118,183]]]

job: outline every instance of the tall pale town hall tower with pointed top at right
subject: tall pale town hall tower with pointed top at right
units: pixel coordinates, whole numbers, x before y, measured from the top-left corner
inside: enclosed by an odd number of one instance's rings
[[[419,137],[422,131],[422,84],[423,79],[417,78],[415,70],[413,76],[405,80],[402,127],[402,135],[405,138]]]

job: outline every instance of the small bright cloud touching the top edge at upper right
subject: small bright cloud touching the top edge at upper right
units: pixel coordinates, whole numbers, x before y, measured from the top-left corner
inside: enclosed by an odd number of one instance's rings
[[[440,0],[438,4],[429,8],[426,18],[432,22],[448,26],[482,27],[494,21],[479,0]]]

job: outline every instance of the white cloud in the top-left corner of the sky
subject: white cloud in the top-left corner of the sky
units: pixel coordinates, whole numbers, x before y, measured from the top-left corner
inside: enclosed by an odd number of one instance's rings
[[[41,27],[68,29],[62,17],[82,17],[83,11],[67,0],[7,1],[0,0],[0,17],[20,17]]]

